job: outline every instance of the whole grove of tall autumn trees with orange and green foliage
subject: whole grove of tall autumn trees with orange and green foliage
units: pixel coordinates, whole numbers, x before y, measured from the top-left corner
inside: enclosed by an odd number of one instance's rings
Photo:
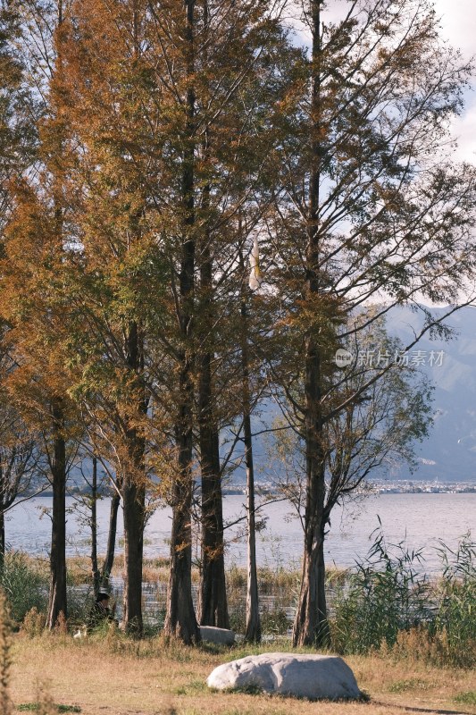
[[[228,627],[222,484],[239,453],[246,638],[259,640],[252,416],[272,400],[282,418],[267,426],[293,463],[280,488],[304,528],[293,641],[322,644],[330,511],[373,468],[411,461],[430,425],[430,388],[395,359],[385,316],[425,316],[402,352],[449,333],[424,304],[450,315],[472,299],[476,177],[448,133],[471,64],[427,0],[2,7],[0,532],[45,474],[47,626],[68,616],[80,453],[113,488],[96,587],[123,510],[125,628],[143,630],[144,527],[161,502],[165,633],[192,644],[199,624]],[[387,359],[336,366],[337,349],[369,345]]]

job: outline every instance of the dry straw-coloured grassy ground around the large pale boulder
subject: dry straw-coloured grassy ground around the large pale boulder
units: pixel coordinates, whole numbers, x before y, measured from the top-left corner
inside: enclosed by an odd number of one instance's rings
[[[266,650],[285,649],[280,644]],[[54,702],[77,706],[84,715],[476,715],[474,672],[377,656],[346,658],[369,702],[305,702],[207,689],[213,668],[249,652],[258,651],[237,646],[216,652],[116,635],[79,641],[19,634],[13,639],[11,694],[17,706],[34,702],[43,684]]]

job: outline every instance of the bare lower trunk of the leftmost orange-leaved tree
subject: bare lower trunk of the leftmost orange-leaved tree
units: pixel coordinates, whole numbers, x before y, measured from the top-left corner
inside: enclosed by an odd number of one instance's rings
[[[50,593],[46,627],[56,626],[60,613],[68,618],[66,602],[66,444],[64,441],[64,416],[61,400],[53,405],[54,455],[53,514],[50,554]]]

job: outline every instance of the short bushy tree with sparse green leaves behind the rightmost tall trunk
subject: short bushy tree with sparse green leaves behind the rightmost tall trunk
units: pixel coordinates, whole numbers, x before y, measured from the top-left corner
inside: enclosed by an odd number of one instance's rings
[[[363,313],[359,319],[364,321],[368,315]],[[359,397],[347,402],[345,409],[326,420],[323,430],[324,538],[316,570],[319,602],[326,614],[324,540],[329,533],[332,509],[355,497],[359,487],[376,470],[381,475],[401,463],[414,467],[416,444],[428,435],[431,423],[429,381],[418,369],[408,365],[403,345],[388,336],[381,320],[367,328],[361,338],[360,357],[355,356],[353,362],[339,366],[328,377],[338,384],[331,396],[334,406],[348,396],[358,393]],[[348,355],[351,355],[350,351]],[[379,355],[383,356],[381,362],[387,364],[397,355],[399,363],[381,374]],[[368,361],[367,356],[370,356]],[[372,356],[375,356],[373,361]],[[379,380],[372,383],[372,376],[377,374]],[[280,420],[280,426],[286,427],[286,421]],[[282,475],[277,484],[278,491],[292,503],[305,526],[304,422],[299,420],[294,422],[292,429],[288,426],[288,429],[276,432],[271,445],[272,453],[279,456],[277,470]],[[328,637],[326,630],[326,621],[322,619],[321,634]]]

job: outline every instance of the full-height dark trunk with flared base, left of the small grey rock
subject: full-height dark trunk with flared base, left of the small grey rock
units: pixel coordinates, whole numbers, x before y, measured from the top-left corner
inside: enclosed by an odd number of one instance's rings
[[[185,0],[185,37],[188,46],[187,73],[191,80],[194,66],[195,0]],[[180,351],[179,408],[175,425],[178,469],[172,487],[171,574],[167,594],[164,632],[184,643],[198,643],[200,629],[192,599],[192,492],[193,492],[193,336],[195,288],[195,90],[187,91],[187,126],[182,173],[184,232],[180,270]]]

